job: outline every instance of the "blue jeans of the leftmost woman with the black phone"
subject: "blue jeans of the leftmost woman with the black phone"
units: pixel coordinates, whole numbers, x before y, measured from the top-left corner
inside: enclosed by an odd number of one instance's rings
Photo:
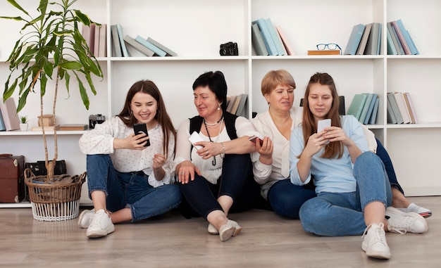
[[[118,172],[109,155],[87,155],[89,198],[93,191],[104,191],[107,210],[130,208],[132,222],[161,215],[180,204],[181,193],[177,185],[154,188],[148,178],[140,172]]]

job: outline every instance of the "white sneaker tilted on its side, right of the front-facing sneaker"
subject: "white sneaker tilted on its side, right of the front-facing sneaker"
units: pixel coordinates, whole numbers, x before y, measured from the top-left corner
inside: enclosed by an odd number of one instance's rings
[[[415,212],[402,212],[397,208],[386,209],[387,229],[392,233],[421,234],[429,229],[429,226],[421,215]]]

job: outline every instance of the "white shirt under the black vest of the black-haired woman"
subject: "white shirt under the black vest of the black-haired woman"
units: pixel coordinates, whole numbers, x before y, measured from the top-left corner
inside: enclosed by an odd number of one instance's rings
[[[235,122],[236,134],[240,138],[242,136],[253,136],[256,134],[253,125],[245,117],[237,117]],[[199,135],[204,139],[204,141],[210,141],[209,137],[199,132]],[[204,160],[199,156],[196,148],[192,148],[192,143],[188,141],[190,137],[190,119],[184,120],[179,126],[177,139],[176,139],[176,157],[175,165],[185,160],[190,160],[196,165],[201,171],[202,177],[204,177],[211,184],[216,184],[219,177],[222,174],[223,159],[220,155],[216,155],[216,165],[213,166],[213,157]],[[221,134],[218,136],[212,136],[211,141],[230,141],[230,136],[228,136],[226,127],[223,127]]]

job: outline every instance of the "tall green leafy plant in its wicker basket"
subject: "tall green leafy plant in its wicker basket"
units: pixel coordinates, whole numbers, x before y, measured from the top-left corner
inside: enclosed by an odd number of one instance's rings
[[[69,92],[71,77],[75,77],[73,79],[77,80],[78,89],[85,108],[89,109],[89,97],[86,87],[88,86],[92,94],[97,94],[94,83],[92,82],[92,75],[101,77],[101,79],[104,78],[104,75],[98,60],[90,53],[85,38],[82,37],[79,29],[80,23],[89,26],[94,22],[90,20],[89,16],[85,13],[74,8],[76,1],[77,0],[53,0],[51,2],[48,0],[40,0],[39,2],[32,1],[32,3],[38,3],[38,6],[35,6],[37,10],[36,15],[31,15],[30,11],[26,11],[15,0],[8,0],[11,5],[23,13],[23,16],[0,16],[0,18],[17,20],[24,23],[20,30],[21,37],[15,42],[13,51],[6,60],[6,62],[9,63],[11,73],[6,80],[3,94],[3,98],[6,100],[18,90],[17,113],[26,105],[27,97],[36,94],[40,99],[39,118],[42,120],[44,113],[44,94],[46,94],[48,90],[53,90],[54,100],[51,105],[52,115],[55,121],[58,85],[64,80],[66,90]],[[30,6],[31,4],[27,5]],[[54,87],[49,87],[49,79],[54,81]],[[54,125],[55,124],[56,122],[54,122]],[[76,201],[80,199],[81,184],[85,181],[85,173],[72,177],[73,180],[74,178],[77,180],[78,177],[80,177],[81,180],[79,191],[77,185],[73,185],[76,187],[75,190],[72,190],[75,191],[75,193],[66,191],[67,186],[52,187],[54,184],[58,184],[59,181],[67,180],[59,177],[56,178],[54,175],[54,167],[58,157],[56,129],[54,128],[54,158],[49,160],[44,124],[40,122],[39,125],[42,126],[45,167],[47,170],[46,176],[43,181],[39,181],[39,184],[45,185],[47,188],[34,189],[34,191],[32,191],[30,185],[34,181],[31,180],[30,183],[28,183],[27,178],[25,181],[29,189],[31,203],[32,195],[35,195],[35,198],[44,198],[41,202],[44,205],[48,203],[48,201],[51,202],[51,200],[54,200],[55,204],[50,208],[40,208],[34,207],[35,204],[32,203],[32,212],[34,212],[35,219],[40,220],[55,221],[73,219],[77,217],[77,211],[75,214],[65,217],[62,215],[64,212],[61,212],[59,208],[79,206],[79,202]],[[26,174],[27,172],[25,172],[25,177],[27,177]],[[60,200],[63,200],[67,205],[60,206]],[[75,200],[75,205],[71,202],[72,200]],[[44,211],[38,212],[38,210]],[[46,214],[46,210],[51,210],[49,215]],[[73,210],[75,210],[75,208],[73,208]]]

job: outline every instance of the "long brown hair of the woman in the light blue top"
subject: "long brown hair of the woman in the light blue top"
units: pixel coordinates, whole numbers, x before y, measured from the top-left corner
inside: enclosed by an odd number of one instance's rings
[[[306,86],[305,96],[304,96],[304,108],[303,108],[303,139],[304,145],[308,143],[309,136],[317,132],[316,120],[314,120],[313,114],[309,109],[309,92],[311,91],[311,86],[313,84],[321,84],[328,86],[331,95],[333,97],[333,105],[331,106],[329,113],[325,115],[325,118],[330,118],[331,125],[333,127],[342,127],[340,121],[340,115],[338,114],[338,108],[340,106],[340,98],[337,94],[337,88],[335,87],[334,79],[326,72],[316,72],[309,79],[308,85]],[[342,158],[343,155],[343,145],[341,141],[333,141],[325,146],[325,151],[321,155],[322,158]]]

